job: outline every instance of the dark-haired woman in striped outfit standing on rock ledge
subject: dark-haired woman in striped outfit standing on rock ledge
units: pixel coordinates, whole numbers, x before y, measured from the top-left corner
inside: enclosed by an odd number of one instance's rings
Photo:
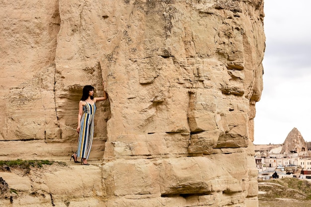
[[[104,96],[94,98],[94,87],[91,85],[85,85],[83,87],[82,97],[79,102],[78,113],[78,127],[77,132],[79,134],[78,150],[74,153],[70,160],[74,158],[77,163],[78,157],[81,157],[81,165],[89,165],[87,159],[91,151],[93,134],[94,134],[94,115],[96,111],[96,101],[103,101],[107,99],[107,93],[104,89],[104,81],[102,82]],[[84,113],[83,113],[84,112]]]

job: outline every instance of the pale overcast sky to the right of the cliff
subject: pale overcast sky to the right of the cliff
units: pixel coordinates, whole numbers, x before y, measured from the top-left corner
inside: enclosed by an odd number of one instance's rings
[[[266,51],[255,144],[283,143],[295,127],[311,141],[310,0],[265,0]]]

